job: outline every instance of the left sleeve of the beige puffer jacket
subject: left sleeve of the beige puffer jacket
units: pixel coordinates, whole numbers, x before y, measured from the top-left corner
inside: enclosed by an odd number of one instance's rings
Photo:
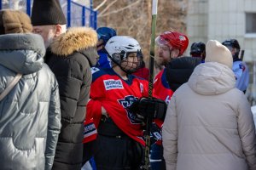
[[[166,111],[166,119],[162,128],[164,158],[166,169],[176,170],[177,166],[177,110],[175,94]]]

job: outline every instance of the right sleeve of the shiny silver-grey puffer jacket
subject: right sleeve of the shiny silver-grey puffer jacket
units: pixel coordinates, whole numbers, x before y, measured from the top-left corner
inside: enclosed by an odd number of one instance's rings
[[[55,79],[55,78],[54,78]],[[55,148],[61,131],[61,105],[58,83],[54,80],[49,100],[48,130],[45,148],[45,170],[53,166]]]

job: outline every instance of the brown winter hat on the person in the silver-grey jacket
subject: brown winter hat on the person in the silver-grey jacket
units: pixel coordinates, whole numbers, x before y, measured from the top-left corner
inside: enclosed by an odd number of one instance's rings
[[[19,10],[0,10],[0,35],[32,32],[29,16]]]

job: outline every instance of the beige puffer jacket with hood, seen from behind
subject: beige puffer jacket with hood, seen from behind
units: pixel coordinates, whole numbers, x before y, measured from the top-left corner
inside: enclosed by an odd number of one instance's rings
[[[163,125],[167,170],[256,169],[256,138],[247,98],[225,65],[198,65],[178,88]]]

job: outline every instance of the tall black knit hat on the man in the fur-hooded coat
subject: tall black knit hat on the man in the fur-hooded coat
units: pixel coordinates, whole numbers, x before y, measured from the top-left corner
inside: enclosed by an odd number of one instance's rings
[[[34,0],[31,20],[33,26],[67,24],[59,0]]]

